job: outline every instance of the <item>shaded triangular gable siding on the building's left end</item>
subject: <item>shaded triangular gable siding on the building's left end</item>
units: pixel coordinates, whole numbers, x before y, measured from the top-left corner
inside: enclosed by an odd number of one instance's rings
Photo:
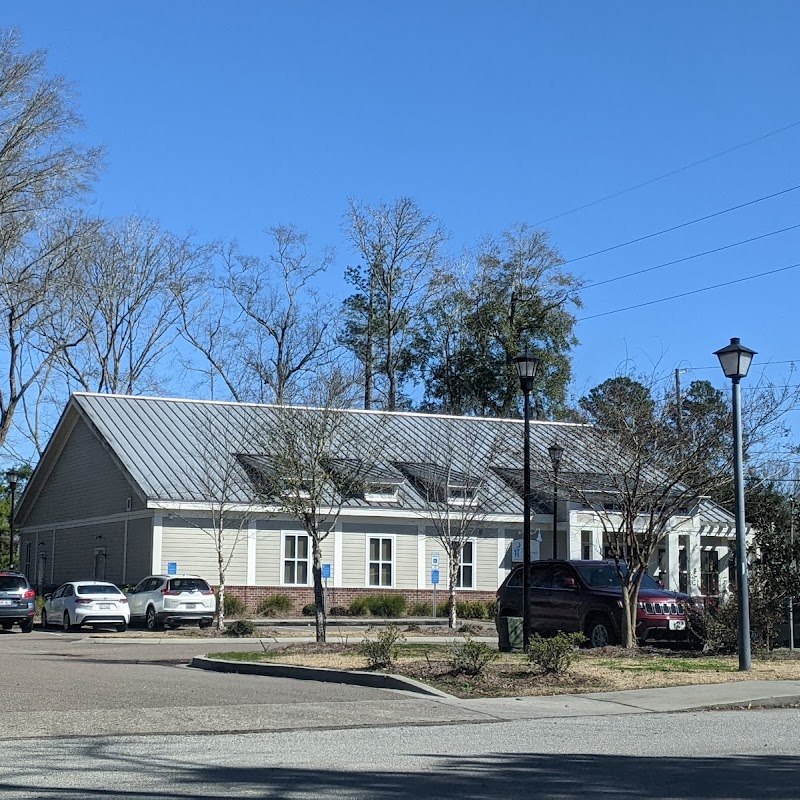
[[[32,486],[31,489],[38,489]],[[78,420],[24,527],[119,514],[142,508],[117,462],[83,420]]]

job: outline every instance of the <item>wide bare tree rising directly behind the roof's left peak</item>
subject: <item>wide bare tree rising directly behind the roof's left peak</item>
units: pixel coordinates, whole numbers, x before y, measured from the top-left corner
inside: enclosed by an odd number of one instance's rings
[[[100,225],[81,248],[75,314],[85,331],[58,363],[85,391],[159,393],[158,374],[178,337],[176,297],[197,286],[203,250],[131,216]]]

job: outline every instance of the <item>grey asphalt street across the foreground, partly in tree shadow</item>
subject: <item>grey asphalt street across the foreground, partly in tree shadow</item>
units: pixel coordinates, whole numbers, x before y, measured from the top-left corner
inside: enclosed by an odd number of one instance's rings
[[[0,742],[4,800],[797,798],[794,710]]]

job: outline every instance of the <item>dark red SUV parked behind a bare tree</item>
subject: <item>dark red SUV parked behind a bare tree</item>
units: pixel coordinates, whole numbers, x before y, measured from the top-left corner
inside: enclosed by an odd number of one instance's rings
[[[623,565],[624,569],[624,565]],[[522,565],[497,590],[497,615],[522,616]],[[530,565],[531,632],[584,633],[592,647],[622,637],[622,586],[613,561],[534,561]],[[640,642],[685,642],[686,609],[645,575],[636,611]],[[498,619],[498,630],[499,630]]]

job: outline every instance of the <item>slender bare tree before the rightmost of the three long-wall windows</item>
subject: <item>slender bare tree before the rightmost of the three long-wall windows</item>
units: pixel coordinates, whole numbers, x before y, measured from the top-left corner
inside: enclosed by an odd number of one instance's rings
[[[484,535],[488,514],[496,508],[498,478],[492,467],[503,446],[486,429],[442,418],[435,439],[429,440],[423,461],[397,466],[425,499],[425,514],[434,538],[447,555],[448,624],[458,624],[456,593],[461,585],[464,548]]]

